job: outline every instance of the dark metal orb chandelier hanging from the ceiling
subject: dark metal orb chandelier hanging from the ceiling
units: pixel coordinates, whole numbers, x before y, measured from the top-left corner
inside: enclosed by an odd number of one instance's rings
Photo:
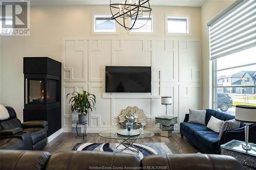
[[[149,1],[150,0],[110,0],[111,19],[115,19],[117,23],[126,30],[142,28],[151,18],[152,9]],[[144,22],[138,22],[138,18],[143,18]]]

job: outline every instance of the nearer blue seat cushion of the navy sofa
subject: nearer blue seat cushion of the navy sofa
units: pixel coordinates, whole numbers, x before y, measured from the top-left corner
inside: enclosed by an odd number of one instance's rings
[[[219,133],[214,131],[196,131],[194,136],[201,140],[207,147],[212,150],[217,148],[219,143]]]

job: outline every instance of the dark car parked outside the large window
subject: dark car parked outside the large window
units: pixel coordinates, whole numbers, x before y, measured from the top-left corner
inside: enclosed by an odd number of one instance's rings
[[[232,98],[227,93],[217,93],[217,108],[221,111],[227,111],[232,107]]]

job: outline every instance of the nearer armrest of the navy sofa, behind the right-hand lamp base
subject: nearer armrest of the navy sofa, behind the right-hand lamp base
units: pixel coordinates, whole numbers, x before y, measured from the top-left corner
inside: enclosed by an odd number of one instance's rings
[[[256,131],[256,124],[249,125],[249,142],[256,143],[256,135],[253,134]],[[220,154],[220,145],[225,144],[233,139],[245,141],[245,128],[233,129],[224,131],[217,147],[217,154]]]

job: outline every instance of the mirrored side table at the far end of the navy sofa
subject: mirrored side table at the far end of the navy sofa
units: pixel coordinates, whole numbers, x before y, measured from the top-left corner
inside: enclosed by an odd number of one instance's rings
[[[159,128],[161,129],[160,136],[170,137],[172,136],[172,131],[174,131],[174,124],[178,123],[177,116],[158,116],[155,117],[156,124],[160,124]]]

